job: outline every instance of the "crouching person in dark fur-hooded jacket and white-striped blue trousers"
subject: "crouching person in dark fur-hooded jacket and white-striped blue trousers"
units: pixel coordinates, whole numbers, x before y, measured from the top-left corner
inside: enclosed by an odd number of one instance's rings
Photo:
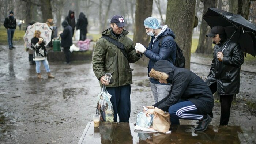
[[[199,120],[195,128],[203,132],[210,124],[209,115],[214,106],[210,88],[199,76],[184,68],[176,68],[167,60],[155,62],[149,73],[160,83],[172,83],[169,95],[153,106],[147,106],[146,114],[153,114],[157,107],[170,113],[171,124],[180,124],[179,119]]]

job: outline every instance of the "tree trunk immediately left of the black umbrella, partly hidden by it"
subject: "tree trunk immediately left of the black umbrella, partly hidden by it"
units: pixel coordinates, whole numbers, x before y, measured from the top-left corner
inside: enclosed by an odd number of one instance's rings
[[[204,3],[203,15],[206,14],[209,7],[215,8],[217,6],[217,0],[201,0]],[[199,42],[196,49],[196,53],[212,54],[212,39],[206,37],[206,34],[210,33],[210,27],[204,19],[202,19],[200,27]]]

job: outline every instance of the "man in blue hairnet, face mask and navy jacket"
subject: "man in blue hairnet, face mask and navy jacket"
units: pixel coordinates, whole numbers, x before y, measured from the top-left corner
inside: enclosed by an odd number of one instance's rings
[[[140,43],[136,43],[135,49],[149,58],[148,73],[158,60],[168,60],[174,64],[176,58],[176,44],[174,32],[165,26],[160,26],[157,18],[148,17],[144,20],[144,26],[151,41],[148,48]],[[160,42],[161,41],[161,42]],[[171,58],[170,58],[171,57]],[[159,83],[158,80],[150,78],[150,87],[154,96],[155,103],[161,101],[169,94],[170,83]]]

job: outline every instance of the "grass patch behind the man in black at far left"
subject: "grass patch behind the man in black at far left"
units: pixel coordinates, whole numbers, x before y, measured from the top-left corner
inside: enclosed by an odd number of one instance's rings
[[[23,41],[23,36],[25,34],[24,30],[15,29],[13,41]],[[7,44],[7,30],[3,25],[0,26],[0,44]]]

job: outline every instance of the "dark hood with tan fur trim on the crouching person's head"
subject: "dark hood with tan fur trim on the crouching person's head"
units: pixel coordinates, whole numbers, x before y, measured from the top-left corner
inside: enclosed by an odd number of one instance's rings
[[[167,60],[159,60],[155,62],[154,67],[151,69],[149,76],[157,80],[167,80],[168,83],[172,82],[173,71],[176,67]]]

